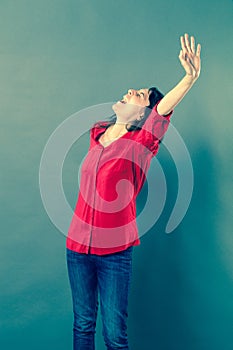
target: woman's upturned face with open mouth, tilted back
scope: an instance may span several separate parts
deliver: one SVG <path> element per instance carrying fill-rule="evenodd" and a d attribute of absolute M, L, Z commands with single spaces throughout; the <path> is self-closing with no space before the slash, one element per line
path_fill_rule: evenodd
<path fill-rule="evenodd" d="M 129 89 L 123 99 L 112 106 L 118 119 L 124 122 L 138 119 L 144 115 L 145 107 L 149 106 L 149 89 Z"/>

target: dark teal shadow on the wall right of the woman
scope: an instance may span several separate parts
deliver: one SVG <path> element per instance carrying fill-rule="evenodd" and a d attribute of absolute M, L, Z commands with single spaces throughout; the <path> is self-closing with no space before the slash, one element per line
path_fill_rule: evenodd
<path fill-rule="evenodd" d="M 164 169 L 165 210 L 134 248 L 128 323 L 134 350 L 231 348 L 232 285 L 217 246 L 219 170 L 210 146 L 203 138 L 196 141 L 193 197 L 182 223 L 165 234 L 177 183 L 172 169 Z"/>

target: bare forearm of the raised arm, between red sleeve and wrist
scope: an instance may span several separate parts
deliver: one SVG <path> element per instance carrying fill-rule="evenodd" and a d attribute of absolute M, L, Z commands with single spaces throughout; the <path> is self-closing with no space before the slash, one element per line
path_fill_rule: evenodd
<path fill-rule="evenodd" d="M 184 98 L 197 79 L 186 74 L 159 102 L 157 111 L 160 115 L 168 114 Z"/>

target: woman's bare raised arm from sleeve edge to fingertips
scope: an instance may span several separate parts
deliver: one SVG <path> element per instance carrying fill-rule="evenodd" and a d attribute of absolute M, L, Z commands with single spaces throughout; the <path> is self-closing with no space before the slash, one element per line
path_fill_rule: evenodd
<path fill-rule="evenodd" d="M 191 36 L 191 45 L 189 36 L 186 33 L 180 37 L 181 50 L 179 54 L 180 63 L 185 70 L 185 76 L 180 82 L 170 90 L 159 102 L 157 111 L 160 115 L 168 114 L 184 98 L 187 92 L 196 82 L 201 71 L 201 45 L 197 45 L 195 50 L 195 39 Z"/>

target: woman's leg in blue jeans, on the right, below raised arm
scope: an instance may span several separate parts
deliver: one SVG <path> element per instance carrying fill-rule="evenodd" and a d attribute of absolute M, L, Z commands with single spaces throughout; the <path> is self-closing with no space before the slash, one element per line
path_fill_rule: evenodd
<path fill-rule="evenodd" d="M 108 350 L 128 350 L 127 307 L 132 277 L 132 250 L 97 259 L 103 336 Z"/>

